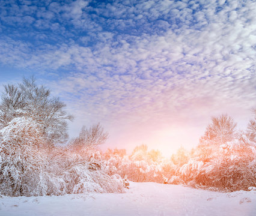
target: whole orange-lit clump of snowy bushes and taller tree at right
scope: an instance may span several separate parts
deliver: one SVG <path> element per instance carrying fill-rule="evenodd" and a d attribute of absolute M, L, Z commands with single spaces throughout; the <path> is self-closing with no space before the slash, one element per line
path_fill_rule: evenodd
<path fill-rule="evenodd" d="M 227 115 L 212 118 L 197 148 L 187 154 L 172 155 L 177 165 L 169 184 L 222 191 L 248 190 L 255 187 L 256 151 L 251 132 L 236 131 L 236 123 Z M 248 136 L 248 134 L 250 136 Z M 178 157 L 181 155 L 182 157 Z M 184 163 L 184 161 L 189 160 Z"/>

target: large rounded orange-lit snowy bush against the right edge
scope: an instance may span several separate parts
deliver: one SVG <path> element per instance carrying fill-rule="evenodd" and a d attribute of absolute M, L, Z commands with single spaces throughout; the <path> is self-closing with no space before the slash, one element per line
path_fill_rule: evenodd
<path fill-rule="evenodd" d="M 219 157 L 201 169 L 201 184 L 221 190 L 248 190 L 256 186 L 255 146 L 234 140 L 221 145 Z"/>

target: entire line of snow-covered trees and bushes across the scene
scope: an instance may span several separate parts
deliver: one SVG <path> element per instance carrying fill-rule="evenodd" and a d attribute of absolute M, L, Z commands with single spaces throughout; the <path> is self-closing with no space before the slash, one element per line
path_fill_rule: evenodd
<path fill-rule="evenodd" d="M 66 104 L 33 77 L 4 86 L 0 103 L 0 194 L 44 196 L 124 193 L 129 181 L 181 184 L 214 191 L 256 187 L 256 109 L 245 131 L 228 115 L 212 117 L 198 145 L 170 158 L 147 145 L 99 148 L 108 133 L 100 124 L 69 139 L 73 116 Z"/>

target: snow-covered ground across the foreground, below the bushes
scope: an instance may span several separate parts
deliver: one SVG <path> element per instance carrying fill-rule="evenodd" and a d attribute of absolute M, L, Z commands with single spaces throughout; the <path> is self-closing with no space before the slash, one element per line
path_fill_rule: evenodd
<path fill-rule="evenodd" d="M 2 197 L 0 215 L 255 215 L 256 191 L 217 193 L 134 183 L 124 194 Z"/>

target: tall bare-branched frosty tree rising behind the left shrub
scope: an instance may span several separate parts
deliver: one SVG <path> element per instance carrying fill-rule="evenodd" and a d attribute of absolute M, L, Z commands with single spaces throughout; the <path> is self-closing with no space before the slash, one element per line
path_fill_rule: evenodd
<path fill-rule="evenodd" d="M 49 89 L 37 86 L 34 77 L 23 79 L 17 85 L 4 86 L 0 103 L 0 128 L 16 118 L 26 116 L 41 125 L 43 136 L 49 145 L 67 140 L 67 120 L 73 117 L 67 115 L 66 104 L 59 98 L 51 97 Z"/>

